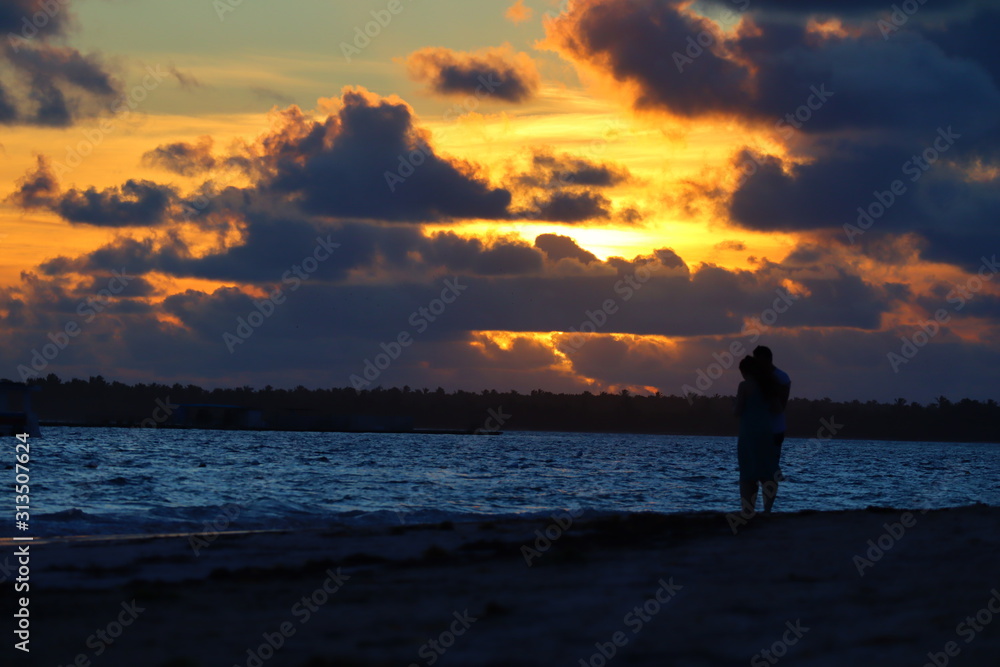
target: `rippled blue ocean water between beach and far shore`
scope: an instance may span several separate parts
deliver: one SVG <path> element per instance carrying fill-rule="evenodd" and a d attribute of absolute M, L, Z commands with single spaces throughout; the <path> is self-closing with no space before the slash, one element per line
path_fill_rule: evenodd
<path fill-rule="evenodd" d="M 31 440 L 29 464 L 36 536 L 738 507 L 735 437 L 54 427 L 43 435 Z M 0 472 L 12 483 L 16 440 L 8 440 Z M 1000 505 L 997 444 L 790 438 L 782 469 L 776 511 Z"/>

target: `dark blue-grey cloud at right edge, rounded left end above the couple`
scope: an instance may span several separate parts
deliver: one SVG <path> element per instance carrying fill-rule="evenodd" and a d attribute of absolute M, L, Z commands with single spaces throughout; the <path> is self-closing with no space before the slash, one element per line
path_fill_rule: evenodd
<path fill-rule="evenodd" d="M 827 230 L 834 241 L 890 262 L 880 237 L 916 233 L 926 241 L 925 258 L 975 269 L 982 248 L 1000 247 L 1000 191 L 993 182 L 967 178 L 962 166 L 947 162 L 947 152 L 935 164 L 924 162 L 926 170 L 920 166 L 940 136 L 932 132 L 911 150 L 857 145 L 791 167 L 758 158 L 757 172 L 730 200 L 730 215 L 759 231 Z"/>

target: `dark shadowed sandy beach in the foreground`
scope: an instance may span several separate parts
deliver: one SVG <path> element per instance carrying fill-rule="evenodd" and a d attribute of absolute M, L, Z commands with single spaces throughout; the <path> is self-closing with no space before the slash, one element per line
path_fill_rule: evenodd
<path fill-rule="evenodd" d="M 1000 508 L 903 515 L 35 542 L 31 654 L 8 580 L 0 664 L 1000 665 Z"/>

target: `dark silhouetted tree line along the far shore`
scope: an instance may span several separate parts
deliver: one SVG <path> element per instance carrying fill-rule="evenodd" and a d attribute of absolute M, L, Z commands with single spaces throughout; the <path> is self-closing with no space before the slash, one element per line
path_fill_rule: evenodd
<path fill-rule="evenodd" d="M 42 422 L 88 425 L 150 425 L 172 405 L 208 403 L 269 411 L 316 414 L 359 414 L 413 417 L 415 428 L 491 429 L 662 433 L 672 435 L 735 435 L 736 418 L 729 396 L 555 394 L 536 389 L 446 392 L 410 387 L 355 390 L 263 389 L 233 387 L 203 389 L 187 384 L 108 382 L 101 376 L 62 381 L 55 374 L 30 380 L 40 390 L 32 402 Z M 823 437 L 824 421 L 838 425 L 837 438 L 872 440 L 934 440 L 1000 442 L 1000 406 L 945 397 L 927 405 L 900 398 L 837 402 L 793 398 L 788 403 L 788 437 Z"/>

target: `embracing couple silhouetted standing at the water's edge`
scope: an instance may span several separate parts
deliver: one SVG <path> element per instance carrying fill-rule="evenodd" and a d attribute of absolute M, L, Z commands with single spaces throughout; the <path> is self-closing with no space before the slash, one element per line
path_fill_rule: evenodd
<path fill-rule="evenodd" d="M 792 381 L 775 367 L 770 348 L 759 345 L 740 361 L 743 381 L 736 391 L 740 419 L 736 455 L 740 465 L 740 505 L 743 515 L 756 513 L 758 485 L 764 512 L 770 513 L 781 481 L 781 444 L 785 440 L 785 406 Z"/>

